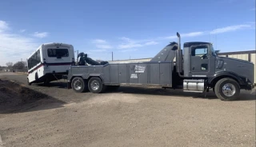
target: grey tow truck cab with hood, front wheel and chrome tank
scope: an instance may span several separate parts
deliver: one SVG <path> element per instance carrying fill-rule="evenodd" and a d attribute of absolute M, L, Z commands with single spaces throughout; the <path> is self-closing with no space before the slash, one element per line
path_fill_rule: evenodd
<path fill-rule="evenodd" d="M 182 51 L 177 50 L 179 52 Z M 252 62 L 218 57 L 210 42 L 186 42 L 183 54 L 183 58 L 178 58 L 183 59 L 182 67 L 177 66 L 182 69 L 178 72 L 184 78 L 183 89 L 187 92 L 212 88 L 220 99 L 234 100 L 238 98 L 240 89 L 254 88 Z"/>

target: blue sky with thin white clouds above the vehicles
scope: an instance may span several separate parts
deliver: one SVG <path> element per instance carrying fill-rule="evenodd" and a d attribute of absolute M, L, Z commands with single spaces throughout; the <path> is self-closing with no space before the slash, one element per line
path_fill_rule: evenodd
<path fill-rule="evenodd" d="M 0 66 L 45 42 L 94 59 L 150 58 L 177 31 L 221 52 L 255 50 L 255 0 L 0 0 Z"/>

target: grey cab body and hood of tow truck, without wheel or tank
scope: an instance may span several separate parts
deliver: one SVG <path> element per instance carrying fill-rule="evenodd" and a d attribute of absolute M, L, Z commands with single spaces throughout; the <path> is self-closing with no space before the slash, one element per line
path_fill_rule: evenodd
<path fill-rule="evenodd" d="M 236 58 L 218 57 L 209 42 L 184 43 L 184 77 L 207 77 L 208 84 L 221 77 L 232 77 L 242 89 L 251 89 L 254 64 Z"/>

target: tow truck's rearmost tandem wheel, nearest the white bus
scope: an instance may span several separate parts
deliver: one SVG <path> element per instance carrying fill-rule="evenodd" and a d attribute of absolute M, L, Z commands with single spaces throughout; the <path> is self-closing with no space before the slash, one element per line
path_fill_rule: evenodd
<path fill-rule="evenodd" d="M 87 89 L 86 82 L 82 79 L 82 77 L 74 77 L 71 81 L 72 89 L 74 89 L 77 93 L 85 92 Z"/>

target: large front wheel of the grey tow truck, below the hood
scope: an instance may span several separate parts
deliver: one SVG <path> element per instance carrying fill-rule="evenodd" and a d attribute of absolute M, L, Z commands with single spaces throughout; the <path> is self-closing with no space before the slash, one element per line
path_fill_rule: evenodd
<path fill-rule="evenodd" d="M 225 87 L 227 87 L 226 90 Z M 232 78 L 222 78 L 217 81 L 214 91 L 216 96 L 222 101 L 234 101 L 239 98 L 240 86 Z"/>

